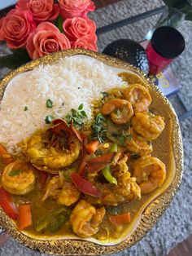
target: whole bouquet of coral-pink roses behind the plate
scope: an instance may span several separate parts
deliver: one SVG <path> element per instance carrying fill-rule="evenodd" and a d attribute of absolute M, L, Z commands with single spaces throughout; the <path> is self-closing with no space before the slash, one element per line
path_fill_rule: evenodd
<path fill-rule="evenodd" d="M 94 8 L 91 0 L 18 0 L 0 20 L 0 41 L 13 52 L 0 58 L 0 67 L 70 48 L 98 51 L 96 24 L 87 16 Z"/>

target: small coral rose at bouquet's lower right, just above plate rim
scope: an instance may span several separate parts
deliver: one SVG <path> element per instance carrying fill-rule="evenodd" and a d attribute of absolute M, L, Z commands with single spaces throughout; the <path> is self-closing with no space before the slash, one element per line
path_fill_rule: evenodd
<path fill-rule="evenodd" d="M 71 44 L 72 44 L 72 48 L 83 48 L 91 51 L 98 51 L 98 46 L 92 38 L 87 38 L 87 37 L 78 38 L 76 39 L 75 42 L 71 42 Z"/>

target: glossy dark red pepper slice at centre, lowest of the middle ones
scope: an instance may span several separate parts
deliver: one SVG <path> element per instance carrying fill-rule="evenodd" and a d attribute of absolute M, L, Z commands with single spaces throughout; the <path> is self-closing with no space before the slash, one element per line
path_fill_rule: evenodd
<path fill-rule="evenodd" d="M 72 173 L 70 176 L 76 188 L 78 188 L 81 192 L 88 194 L 89 196 L 101 196 L 98 188 L 96 188 L 94 184 L 90 183 L 88 180 L 82 178 L 80 174 Z"/>

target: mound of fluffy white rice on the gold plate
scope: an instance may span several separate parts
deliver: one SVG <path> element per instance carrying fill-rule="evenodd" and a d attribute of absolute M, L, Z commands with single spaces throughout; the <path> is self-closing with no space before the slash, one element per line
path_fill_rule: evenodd
<path fill-rule="evenodd" d="M 18 142 L 47 126 L 46 116 L 65 117 L 80 104 L 91 118 L 93 99 L 101 97 L 101 91 L 123 86 L 116 73 L 98 60 L 76 55 L 18 75 L 8 84 L 0 105 L 0 143 L 15 154 Z M 46 107 L 47 99 L 53 108 Z"/>

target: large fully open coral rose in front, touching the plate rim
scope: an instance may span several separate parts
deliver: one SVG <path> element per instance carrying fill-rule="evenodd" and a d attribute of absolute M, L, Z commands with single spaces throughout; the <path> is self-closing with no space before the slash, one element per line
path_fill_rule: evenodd
<path fill-rule="evenodd" d="M 28 55 L 34 60 L 55 51 L 69 49 L 71 45 L 68 38 L 60 33 L 54 24 L 42 22 L 28 37 L 26 48 Z"/>

